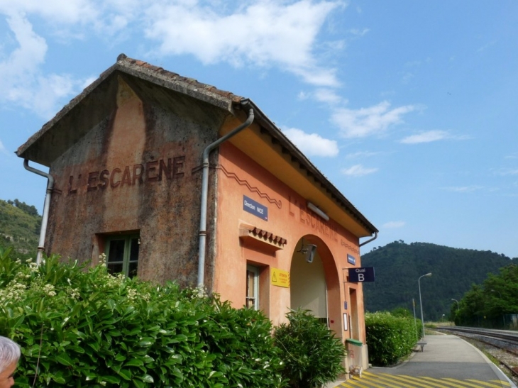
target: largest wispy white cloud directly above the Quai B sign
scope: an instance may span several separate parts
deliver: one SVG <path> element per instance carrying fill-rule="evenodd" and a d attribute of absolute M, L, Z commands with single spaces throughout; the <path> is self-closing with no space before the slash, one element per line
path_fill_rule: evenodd
<path fill-rule="evenodd" d="M 390 109 L 388 101 L 362 109 L 338 108 L 331 115 L 331 122 L 340 128 L 345 138 L 364 138 L 370 135 L 380 135 L 387 128 L 402 123 L 403 116 L 416 110 L 413 105 L 399 106 Z"/>

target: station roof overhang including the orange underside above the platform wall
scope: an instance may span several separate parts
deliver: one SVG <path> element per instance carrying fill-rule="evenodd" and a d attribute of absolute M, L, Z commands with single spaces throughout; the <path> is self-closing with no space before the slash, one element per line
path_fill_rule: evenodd
<path fill-rule="evenodd" d="M 241 111 L 241 96 L 121 54 L 113 66 L 21 145 L 16 155 L 50 167 L 53 160 L 91 128 L 109 119 L 116 110 L 118 77 L 123 77 L 131 87 L 149 98 L 160 100 L 162 104 L 167 104 L 167 94 L 181 94 L 191 98 L 189 102 L 194 108 L 202 110 L 209 104 L 228 112 L 236 121 L 244 121 L 246 117 Z M 231 138 L 231 143 L 358 238 L 378 233 L 375 226 L 324 177 L 280 128 L 253 101 L 248 101 L 255 113 L 254 123 Z"/>

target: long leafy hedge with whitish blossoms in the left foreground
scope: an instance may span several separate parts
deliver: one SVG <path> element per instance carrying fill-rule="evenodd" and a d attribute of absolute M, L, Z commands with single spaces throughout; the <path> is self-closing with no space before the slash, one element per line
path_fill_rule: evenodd
<path fill-rule="evenodd" d="M 199 289 L 57 256 L 37 267 L 0 248 L 0 335 L 22 348 L 17 387 L 282 387 L 271 330 Z"/>

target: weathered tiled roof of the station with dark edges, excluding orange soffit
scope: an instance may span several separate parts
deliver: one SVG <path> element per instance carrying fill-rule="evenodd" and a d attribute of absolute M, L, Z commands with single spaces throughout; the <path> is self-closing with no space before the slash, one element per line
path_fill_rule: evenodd
<path fill-rule="evenodd" d="M 175 72 L 170 72 L 162 67 L 150 65 L 148 62 L 129 58 L 124 54 L 117 57 L 117 62 L 101 73 L 98 79 L 86 87 L 69 104 L 63 107 L 48 123 L 21 145 L 16 154 L 19 157 L 38 162 L 41 165 L 50 166 L 56 157 L 62 155 L 70 145 L 77 142 L 90 128 L 106 118 L 111 111 L 116 109 L 114 99 L 106 99 L 106 94 L 113 93 L 116 88 L 115 74 L 128 74 L 137 79 L 150 82 L 150 84 L 191 96 L 199 101 L 217 106 L 220 109 L 235 114 L 236 106 L 240 105 L 243 97 L 218 89 L 209 84 L 198 82 L 196 79 L 182 77 Z M 370 233 L 378 230 L 371 224 L 341 192 L 307 159 L 296 145 L 294 145 L 270 118 L 260 111 L 253 101 L 248 100 L 253 107 L 254 122 L 260 126 L 261 133 L 268 133 L 272 147 L 282 153 L 291 155 L 291 160 L 304 170 L 309 179 L 313 179 L 317 186 L 325 190 L 331 200 L 341 206 L 348 214 L 362 224 Z M 82 107 L 86 109 L 82 109 Z M 75 109 L 78 107 L 78 109 Z M 57 135 L 59 134 L 59 135 Z M 40 147 L 41 143 L 52 140 L 53 147 Z"/>

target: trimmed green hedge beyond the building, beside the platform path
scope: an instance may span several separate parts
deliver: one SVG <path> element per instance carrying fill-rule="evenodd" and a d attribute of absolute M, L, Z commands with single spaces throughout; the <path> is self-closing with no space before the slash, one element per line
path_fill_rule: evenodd
<path fill-rule="evenodd" d="M 416 324 L 414 318 L 387 312 L 365 314 L 369 361 L 378 367 L 395 365 L 412 353 L 421 331 L 421 321 Z"/>

